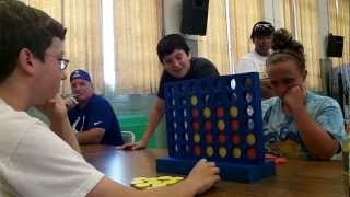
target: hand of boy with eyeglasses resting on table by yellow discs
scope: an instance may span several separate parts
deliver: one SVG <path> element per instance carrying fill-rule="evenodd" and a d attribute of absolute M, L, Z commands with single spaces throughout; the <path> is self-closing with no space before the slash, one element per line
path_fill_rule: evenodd
<path fill-rule="evenodd" d="M 196 194 L 201 194 L 220 179 L 219 172 L 220 170 L 214 162 L 208 162 L 206 159 L 201 159 L 184 182 L 189 183 L 191 187 L 189 189 L 195 189 Z"/>

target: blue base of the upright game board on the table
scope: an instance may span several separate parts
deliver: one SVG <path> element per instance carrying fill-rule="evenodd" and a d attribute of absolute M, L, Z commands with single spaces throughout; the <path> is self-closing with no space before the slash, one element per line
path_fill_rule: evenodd
<path fill-rule="evenodd" d="M 156 171 L 187 175 L 196 164 L 194 160 L 175 158 L 156 159 Z M 233 164 L 217 162 L 220 167 L 220 177 L 224 181 L 254 183 L 276 174 L 275 163 L 266 161 L 259 164 Z"/>

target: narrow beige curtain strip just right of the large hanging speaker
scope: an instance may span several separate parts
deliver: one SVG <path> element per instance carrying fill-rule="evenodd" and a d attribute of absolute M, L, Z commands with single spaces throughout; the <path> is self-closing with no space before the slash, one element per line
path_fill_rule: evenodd
<path fill-rule="evenodd" d="M 207 35 L 198 37 L 198 56 L 212 61 L 220 74 L 229 73 L 225 0 L 209 1 Z"/>

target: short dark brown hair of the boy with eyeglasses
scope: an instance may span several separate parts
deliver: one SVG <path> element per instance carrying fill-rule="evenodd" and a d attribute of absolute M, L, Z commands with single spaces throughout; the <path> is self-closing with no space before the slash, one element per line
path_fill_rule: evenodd
<path fill-rule="evenodd" d="M 0 0 L 0 82 L 15 69 L 21 49 L 44 61 L 52 38 L 65 40 L 65 35 L 66 28 L 45 12 L 18 0 Z"/>

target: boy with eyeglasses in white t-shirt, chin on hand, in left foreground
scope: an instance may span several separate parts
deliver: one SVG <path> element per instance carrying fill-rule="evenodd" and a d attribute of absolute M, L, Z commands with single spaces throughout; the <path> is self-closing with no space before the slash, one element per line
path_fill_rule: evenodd
<path fill-rule="evenodd" d="M 0 196 L 195 196 L 219 181 L 215 164 L 201 160 L 182 183 L 136 190 L 90 165 L 57 96 L 65 35 L 45 12 L 0 0 Z M 50 127 L 25 113 L 31 106 Z"/>

